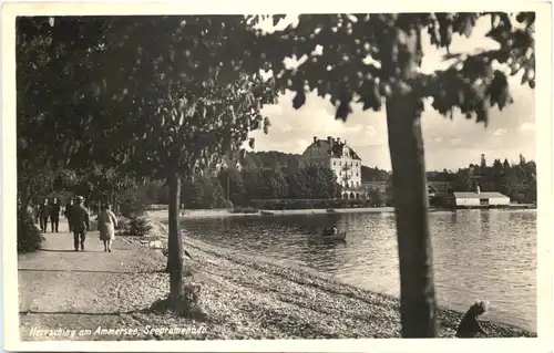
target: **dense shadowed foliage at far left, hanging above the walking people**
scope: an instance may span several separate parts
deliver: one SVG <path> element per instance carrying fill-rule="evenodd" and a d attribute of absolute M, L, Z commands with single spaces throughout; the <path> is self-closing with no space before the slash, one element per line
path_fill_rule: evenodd
<path fill-rule="evenodd" d="M 106 23 L 102 17 L 17 20 L 18 194 L 25 205 L 61 190 L 111 201 L 129 184 L 110 146 L 98 148 L 107 110 L 89 75 L 105 49 Z"/>

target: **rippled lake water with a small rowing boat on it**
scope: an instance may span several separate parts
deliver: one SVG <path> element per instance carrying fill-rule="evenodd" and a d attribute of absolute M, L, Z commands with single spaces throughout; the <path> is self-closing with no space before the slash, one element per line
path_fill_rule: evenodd
<path fill-rule="evenodd" d="M 536 211 L 430 214 L 440 305 L 465 311 L 489 300 L 483 319 L 536 332 Z M 240 253 L 290 261 L 372 291 L 399 297 L 393 214 L 229 217 L 184 222 L 191 237 Z M 347 242 L 321 239 L 327 226 Z"/>

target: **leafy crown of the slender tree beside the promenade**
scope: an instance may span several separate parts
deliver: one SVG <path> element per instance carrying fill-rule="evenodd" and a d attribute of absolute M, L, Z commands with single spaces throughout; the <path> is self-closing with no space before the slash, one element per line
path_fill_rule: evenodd
<path fill-rule="evenodd" d="M 105 62 L 99 77 L 121 114 L 114 138 L 126 144 L 140 173 L 194 174 L 238 150 L 249 131 L 267 129 L 259 111 L 274 102 L 270 87 L 224 60 L 233 42 L 226 21 L 237 20 L 112 20 L 104 56 L 115 62 Z M 144 41 L 146 33 L 152 41 Z"/>

